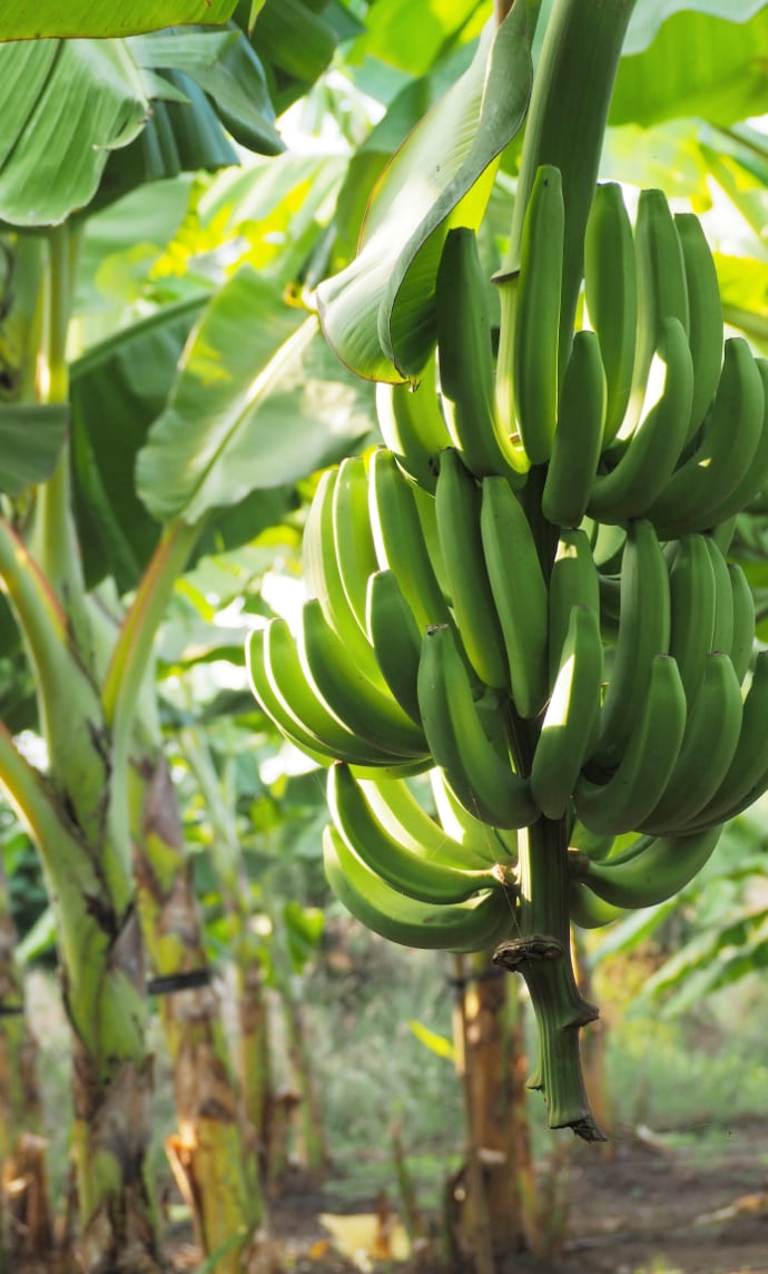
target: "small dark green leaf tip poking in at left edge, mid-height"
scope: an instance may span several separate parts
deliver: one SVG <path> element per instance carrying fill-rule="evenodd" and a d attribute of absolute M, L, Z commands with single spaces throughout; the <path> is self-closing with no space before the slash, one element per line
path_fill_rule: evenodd
<path fill-rule="evenodd" d="M 0 403 L 0 490 L 18 496 L 46 482 L 61 454 L 66 403 Z"/>

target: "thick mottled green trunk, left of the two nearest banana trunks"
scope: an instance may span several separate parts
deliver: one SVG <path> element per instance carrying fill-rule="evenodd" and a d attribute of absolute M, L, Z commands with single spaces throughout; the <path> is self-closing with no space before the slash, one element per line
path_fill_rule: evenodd
<path fill-rule="evenodd" d="M 75 669 L 66 674 L 70 687 Z M 0 784 L 39 848 L 56 912 L 73 1034 L 78 1261 L 85 1274 L 159 1274 L 146 1176 L 152 1057 L 144 1038 L 144 952 L 132 892 L 120 870 L 122 855 L 103 810 L 108 782 L 96 720 L 88 712 L 69 719 L 70 754 L 84 766 L 76 787 L 53 790 L 4 729 Z M 53 736 L 53 743 L 62 740 Z M 55 772 L 56 748 L 50 753 Z M 94 787 L 99 814 L 89 804 Z M 101 837 L 93 836 L 94 823 Z"/>

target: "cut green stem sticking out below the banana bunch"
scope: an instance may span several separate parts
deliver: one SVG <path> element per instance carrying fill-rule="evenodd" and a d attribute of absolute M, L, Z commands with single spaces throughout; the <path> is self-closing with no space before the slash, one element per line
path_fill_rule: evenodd
<path fill-rule="evenodd" d="M 540 818 L 518 841 L 518 935 L 501 943 L 493 959 L 520 973 L 529 989 L 540 1056 L 529 1084 L 544 1096 L 549 1126 L 604 1142 L 581 1070 L 578 1031 L 597 1018 L 597 1009 L 580 995 L 573 973 L 564 820 Z"/>

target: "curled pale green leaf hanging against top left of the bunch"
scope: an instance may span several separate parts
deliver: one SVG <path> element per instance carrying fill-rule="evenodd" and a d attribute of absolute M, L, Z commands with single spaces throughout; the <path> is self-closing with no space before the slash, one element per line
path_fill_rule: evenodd
<path fill-rule="evenodd" d="M 326 338 L 358 375 L 402 381 L 424 366 L 446 234 L 453 224 L 479 224 L 492 166 L 522 124 L 530 87 L 525 6 L 516 4 L 495 36 L 487 28 L 469 70 L 395 154 L 355 260 L 317 290 Z"/>

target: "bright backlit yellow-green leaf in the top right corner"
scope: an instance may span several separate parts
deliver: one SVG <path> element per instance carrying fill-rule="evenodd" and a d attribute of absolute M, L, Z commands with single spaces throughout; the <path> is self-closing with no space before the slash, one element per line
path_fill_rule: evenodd
<path fill-rule="evenodd" d="M 695 116 L 727 125 L 764 112 L 768 6 L 721 0 L 694 10 L 669 0 L 634 11 L 646 20 L 628 32 L 609 124 L 651 127 Z"/>

